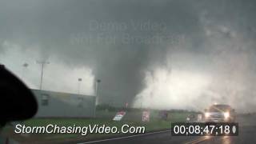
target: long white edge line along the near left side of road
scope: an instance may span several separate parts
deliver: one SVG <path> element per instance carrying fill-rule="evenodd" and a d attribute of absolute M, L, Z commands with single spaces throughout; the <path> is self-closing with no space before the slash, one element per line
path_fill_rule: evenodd
<path fill-rule="evenodd" d="M 124 139 L 124 138 L 134 138 L 134 137 L 139 137 L 139 136 L 144 136 L 144 135 L 160 134 L 160 133 L 166 133 L 166 132 L 170 132 L 170 130 L 157 131 L 157 132 L 151 132 L 151 133 L 146 133 L 146 134 L 135 134 L 135 135 L 129 135 L 129 136 L 124 136 L 124 137 L 119 137 L 119 138 L 108 138 L 108 139 L 102 139 L 102 140 L 98 140 L 98 141 L 81 142 L 81 143 L 77 143 L 77 144 L 106 142 L 106 141 L 113 141 L 113 140 Z"/>

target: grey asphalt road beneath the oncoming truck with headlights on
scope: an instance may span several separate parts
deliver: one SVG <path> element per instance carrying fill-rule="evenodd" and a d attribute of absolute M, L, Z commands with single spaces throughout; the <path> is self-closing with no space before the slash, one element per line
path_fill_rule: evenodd
<path fill-rule="evenodd" d="M 255 122 L 254 118 L 250 118 L 250 123 Z M 244 119 L 239 122 L 238 136 L 229 137 L 174 137 L 171 136 L 170 130 L 155 132 L 150 134 L 132 135 L 121 138 L 109 138 L 91 142 L 77 142 L 77 144 L 254 144 L 256 143 L 256 125 L 250 124 Z"/>

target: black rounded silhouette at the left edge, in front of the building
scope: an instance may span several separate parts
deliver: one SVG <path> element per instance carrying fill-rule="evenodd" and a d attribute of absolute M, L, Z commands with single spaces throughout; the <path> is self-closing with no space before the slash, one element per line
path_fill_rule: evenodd
<path fill-rule="evenodd" d="M 31 118 L 37 110 L 34 94 L 0 64 L 0 124 Z"/>

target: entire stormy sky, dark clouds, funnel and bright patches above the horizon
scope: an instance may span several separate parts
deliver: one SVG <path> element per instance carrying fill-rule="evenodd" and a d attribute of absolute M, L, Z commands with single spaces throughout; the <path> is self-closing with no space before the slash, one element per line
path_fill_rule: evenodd
<path fill-rule="evenodd" d="M 256 108 L 256 3 L 243 0 L 1 1 L 0 62 L 28 86 L 114 106 Z M 23 63 L 28 63 L 26 68 Z"/>

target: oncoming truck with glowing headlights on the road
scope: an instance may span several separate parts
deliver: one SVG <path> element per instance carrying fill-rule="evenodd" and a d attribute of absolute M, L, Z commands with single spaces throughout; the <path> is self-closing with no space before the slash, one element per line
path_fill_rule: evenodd
<path fill-rule="evenodd" d="M 205 122 L 234 122 L 235 112 L 229 105 L 213 105 L 205 110 Z"/>

